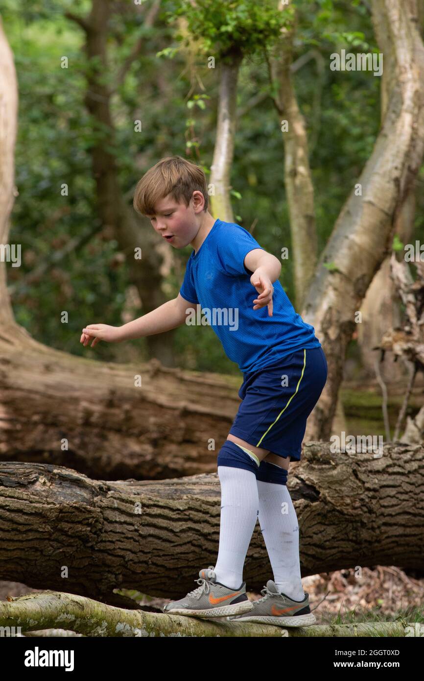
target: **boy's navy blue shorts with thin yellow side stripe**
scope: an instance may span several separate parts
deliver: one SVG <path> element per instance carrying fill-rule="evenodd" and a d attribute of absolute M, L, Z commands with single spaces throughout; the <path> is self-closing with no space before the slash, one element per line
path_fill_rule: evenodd
<path fill-rule="evenodd" d="M 301 349 L 243 374 L 243 400 L 231 434 L 283 458 L 300 460 L 306 419 L 327 381 L 323 348 Z"/>

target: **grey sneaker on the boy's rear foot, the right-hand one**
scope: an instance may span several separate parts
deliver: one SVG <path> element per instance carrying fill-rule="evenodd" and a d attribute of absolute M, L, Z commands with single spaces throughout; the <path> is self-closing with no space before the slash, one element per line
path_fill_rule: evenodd
<path fill-rule="evenodd" d="M 293 601 L 278 591 L 275 582 L 267 581 L 261 590 L 262 598 L 250 601 L 253 612 L 236 617 L 227 617 L 235 622 L 259 622 L 277 624 L 279 627 L 308 627 L 315 624 L 316 618 L 310 612 L 309 594 L 305 592 L 303 601 Z"/>

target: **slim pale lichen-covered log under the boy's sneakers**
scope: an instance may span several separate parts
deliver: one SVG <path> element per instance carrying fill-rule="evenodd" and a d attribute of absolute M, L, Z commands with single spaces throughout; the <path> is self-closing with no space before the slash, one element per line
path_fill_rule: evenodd
<path fill-rule="evenodd" d="M 219 620 L 219 621 L 215 621 Z M 201 620 L 111 607 L 63 592 L 26 594 L 0 602 L 0 627 L 21 627 L 22 632 L 63 627 L 85 636 L 216 636 L 216 637 L 404 637 L 415 631 L 414 622 L 360 622 L 312 627 L 274 627 L 255 622 L 231 622 L 225 618 Z M 408 634 L 410 635 L 410 633 Z"/>

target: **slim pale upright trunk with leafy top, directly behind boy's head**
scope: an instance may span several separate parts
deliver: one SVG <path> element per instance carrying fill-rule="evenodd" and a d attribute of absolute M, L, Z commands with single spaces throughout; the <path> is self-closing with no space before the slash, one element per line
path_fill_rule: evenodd
<path fill-rule="evenodd" d="M 225 222 L 233 222 L 230 197 L 230 174 L 233 162 L 236 123 L 237 81 L 242 54 L 235 52 L 221 57 L 221 81 L 218 97 L 218 123 L 214 157 L 210 167 L 210 183 L 214 194 L 210 197 L 211 212 Z"/>

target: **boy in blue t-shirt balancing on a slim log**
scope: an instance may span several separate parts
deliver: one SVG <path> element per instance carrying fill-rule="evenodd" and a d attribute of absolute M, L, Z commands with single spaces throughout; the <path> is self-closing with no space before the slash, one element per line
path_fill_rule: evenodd
<path fill-rule="evenodd" d="M 287 474 L 300 460 L 306 419 L 327 379 L 327 361 L 314 328 L 304 323 L 278 281 L 280 261 L 235 223 L 208 211 L 206 177 L 180 156 L 161 159 L 141 178 L 134 207 L 180 249 L 193 247 L 174 300 L 119 328 L 91 324 L 81 342 L 122 341 L 180 326 L 186 313 L 213 311 L 208 322 L 244 381 L 242 403 L 218 454 L 221 527 L 216 565 L 199 571 L 199 586 L 163 608 L 203 618 L 304 627 L 314 624 L 301 586 L 299 528 Z M 252 299 L 255 288 L 259 295 Z M 235 311 L 237 325 L 225 323 Z M 215 314 L 215 313 L 218 313 Z M 219 317 L 219 318 L 218 318 Z M 253 603 L 242 580 L 257 518 L 274 581 Z"/>

